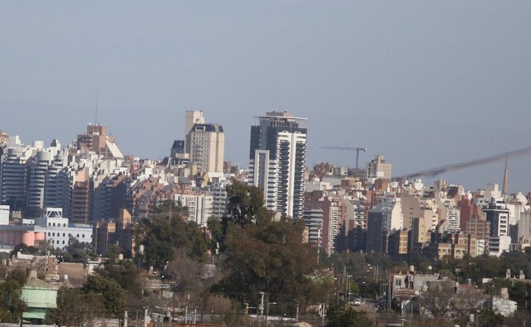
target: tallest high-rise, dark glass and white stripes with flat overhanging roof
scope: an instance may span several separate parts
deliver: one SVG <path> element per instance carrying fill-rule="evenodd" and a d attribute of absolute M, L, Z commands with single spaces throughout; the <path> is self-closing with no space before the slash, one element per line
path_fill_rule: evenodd
<path fill-rule="evenodd" d="M 294 219 L 303 218 L 306 120 L 268 112 L 251 127 L 249 184 L 261 188 L 268 210 Z"/>

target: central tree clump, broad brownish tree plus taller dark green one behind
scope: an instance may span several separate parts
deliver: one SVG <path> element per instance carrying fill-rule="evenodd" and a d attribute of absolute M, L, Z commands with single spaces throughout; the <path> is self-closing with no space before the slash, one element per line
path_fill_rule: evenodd
<path fill-rule="evenodd" d="M 304 222 L 272 220 L 259 189 L 235 183 L 228 189 L 231 215 L 224 219 L 224 277 L 214 291 L 256 303 L 259 292 L 277 308 L 326 301 L 333 278 L 318 264 L 317 250 L 303 243 Z"/>

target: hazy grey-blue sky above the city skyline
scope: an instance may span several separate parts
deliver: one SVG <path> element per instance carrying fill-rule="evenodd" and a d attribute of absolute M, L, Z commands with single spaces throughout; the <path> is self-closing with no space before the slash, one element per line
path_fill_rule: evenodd
<path fill-rule="evenodd" d="M 530 146 L 531 1 L 0 1 L 0 129 L 70 143 L 106 124 L 168 155 L 184 111 L 221 123 L 247 167 L 252 117 L 308 119 L 308 159 L 393 175 Z M 531 190 L 531 155 L 509 189 Z M 504 162 L 442 174 L 475 190 Z"/>

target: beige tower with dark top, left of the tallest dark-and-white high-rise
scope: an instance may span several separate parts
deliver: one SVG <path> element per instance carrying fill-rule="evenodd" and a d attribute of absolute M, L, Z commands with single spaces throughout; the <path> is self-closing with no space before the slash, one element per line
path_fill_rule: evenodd
<path fill-rule="evenodd" d="M 201 172 L 223 172 L 225 133 L 218 124 L 196 123 L 188 133 L 190 160 Z"/>

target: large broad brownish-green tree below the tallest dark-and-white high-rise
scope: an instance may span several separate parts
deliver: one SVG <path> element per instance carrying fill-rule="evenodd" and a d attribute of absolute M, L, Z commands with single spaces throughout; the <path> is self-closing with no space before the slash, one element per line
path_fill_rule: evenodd
<path fill-rule="evenodd" d="M 279 305 L 298 297 L 308 301 L 329 297 L 333 280 L 319 273 L 317 251 L 303 243 L 303 229 L 304 222 L 289 218 L 231 227 L 223 261 L 225 276 L 214 291 L 236 294 L 233 297 L 242 302 L 255 300 L 248 294 L 257 298 L 259 291 L 265 291 Z"/>

